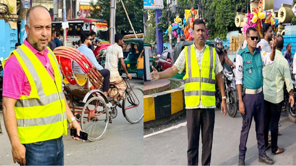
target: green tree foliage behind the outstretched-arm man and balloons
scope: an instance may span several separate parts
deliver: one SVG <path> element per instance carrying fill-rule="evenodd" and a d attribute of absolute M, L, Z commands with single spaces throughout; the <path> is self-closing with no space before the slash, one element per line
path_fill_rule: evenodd
<path fill-rule="evenodd" d="M 247 0 L 179 0 L 177 14 L 183 19 L 184 9 L 199 8 L 200 18 L 205 19 L 206 23 L 208 23 L 209 39 L 226 38 L 227 32 L 240 31 L 239 28 L 235 27 L 235 16 L 240 12 L 247 13 L 247 4 Z M 162 31 L 166 31 L 169 22 L 173 23 L 174 18 L 177 16 L 166 6 L 166 0 L 164 0 L 164 5 L 165 8 L 162 10 L 162 16 L 160 17 L 161 21 L 157 25 Z M 164 36 L 164 42 L 168 41 L 169 37 Z"/>

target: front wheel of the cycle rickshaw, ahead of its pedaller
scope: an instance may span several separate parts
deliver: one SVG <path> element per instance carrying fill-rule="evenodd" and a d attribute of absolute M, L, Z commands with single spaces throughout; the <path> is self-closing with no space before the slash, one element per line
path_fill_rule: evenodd
<path fill-rule="evenodd" d="M 122 102 L 122 111 L 125 119 L 135 124 L 141 121 L 144 117 L 144 91 L 138 87 L 132 87 L 131 96 L 127 93 Z M 136 97 L 135 97 L 136 95 Z"/>

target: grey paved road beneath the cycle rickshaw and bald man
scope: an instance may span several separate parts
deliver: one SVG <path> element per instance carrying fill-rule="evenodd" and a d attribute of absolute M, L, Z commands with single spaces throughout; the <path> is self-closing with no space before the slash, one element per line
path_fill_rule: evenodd
<path fill-rule="evenodd" d="M 143 79 L 133 74 L 131 85 L 143 88 Z M 0 165 L 13 163 L 11 145 L 4 128 L 3 115 L 0 120 L 4 134 L 0 135 Z M 109 124 L 107 133 L 97 142 L 74 141 L 64 136 L 65 165 L 143 165 L 143 119 L 130 124 L 118 109 L 118 115 Z"/>

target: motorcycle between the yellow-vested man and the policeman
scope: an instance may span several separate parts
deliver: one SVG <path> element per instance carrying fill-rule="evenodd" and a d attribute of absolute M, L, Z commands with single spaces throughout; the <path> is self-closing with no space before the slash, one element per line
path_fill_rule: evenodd
<path fill-rule="evenodd" d="M 235 117 L 237 113 L 237 93 L 234 80 L 234 73 L 232 66 L 225 65 L 225 68 L 222 70 L 222 78 L 224 81 L 224 90 L 226 95 L 226 106 L 227 112 L 230 117 Z M 222 103 L 221 92 L 218 85 L 216 86 L 216 107 L 219 108 Z"/>

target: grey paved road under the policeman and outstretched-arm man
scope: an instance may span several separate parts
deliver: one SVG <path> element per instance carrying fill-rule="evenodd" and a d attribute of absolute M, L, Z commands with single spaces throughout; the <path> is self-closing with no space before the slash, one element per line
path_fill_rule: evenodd
<path fill-rule="evenodd" d="M 180 119 L 182 122 L 184 120 Z M 172 125 L 176 126 L 176 124 Z M 296 124 L 288 119 L 286 112 L 282 112 L 280 124 L 282 126 L 279 130 L 283 135 L 278 137 L 278 146 L 284 147 L 286 151 L 275 156 L 271 155 L 270 149 L 266 153 L 274 159 L 274 165 L 296 165 Z M 242 117 L 239 113 L 235 118 L 231 118 L 228 114 L 223 117 L 219 110 L 216 111 L 211 165 L 238 164 L 241 127 Z M 146 137 L 144 138 L 144 165 L 187 165 L 187 145 L 187 126 Z M 246 165 L 265 165 L 258 162 L 254 121 L 250 129 L 247 148 Z M 201 138 L 199 165 L 201 165 Z"/>

